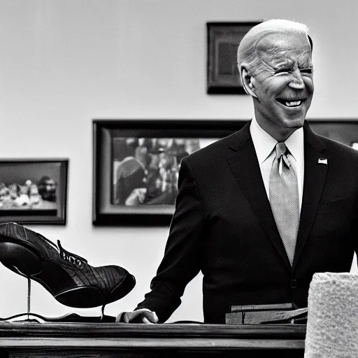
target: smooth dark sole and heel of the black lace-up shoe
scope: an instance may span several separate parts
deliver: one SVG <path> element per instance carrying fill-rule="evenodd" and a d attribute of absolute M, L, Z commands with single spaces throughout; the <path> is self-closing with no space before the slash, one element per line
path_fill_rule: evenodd
<path fill-rule="evenodd" d="M 58 264 L 45 262 L 36 249 L 10 241 L 1 241 L 1 238 L 0 262 L 11 271 L 18 274 L 20 273 L 20 275 L 40 283 L 59 303 L 74 308 L 92 308 L 117 301 L 133 289 L 133 282 L 135 282 L 134 276 L 129 274 L 124 278 L 123 282 L 120 282 L 120 284 L 110 292 L 110 300 L 106 299 L 101 289 L 94 286 L 75 287 L 59 294 L 54 294 L 50 287 L 41 280 L 41 273 L 45 271 L 53 273 L 53 277 L 61 277 L 61 275 L 64 275 L 64 270 Z M 67 273 L 66 276 L 68 276 Z M 115 294 L 115 296 L 112 296 L 115 290 L 119 289 L 122 285 L 123 289 L 121 287 L 119 292 Z"/>

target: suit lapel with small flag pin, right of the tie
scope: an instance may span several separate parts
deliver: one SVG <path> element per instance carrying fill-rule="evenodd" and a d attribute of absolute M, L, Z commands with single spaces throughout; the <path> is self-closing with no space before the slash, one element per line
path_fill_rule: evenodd
<path fill-rule="evenodd" d="M 299 233 L 296 241 L 296 252 L 294 256 L 294 266 L 298 261 L 303 246 L 306 243 L 310 228 L 317 211 L 318 203 L 322 195 L 324 182 L 326 181 L 329 155 L 325 151 L 324 144 L 320 138 L 313 133 L 313 131 L 305 122 L 303 126 L 305 145 L 304 145 L 304 180 L 303 180 L 303 197 L 301 207 L 301 217 L 299 224 Z M 327 159 L 320 161 L 320 159 Z M 320 163 L 321 162 L 321 163 Z"/>

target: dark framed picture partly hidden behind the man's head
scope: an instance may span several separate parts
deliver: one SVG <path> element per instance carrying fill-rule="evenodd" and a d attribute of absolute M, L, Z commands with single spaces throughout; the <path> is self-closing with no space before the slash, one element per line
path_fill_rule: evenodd
<path fill-rule="evenodd" d="M 237 50 L 243 36 L 260 22 L 207 22 L 208 94 L 245 94 L 238 74 Z"/>

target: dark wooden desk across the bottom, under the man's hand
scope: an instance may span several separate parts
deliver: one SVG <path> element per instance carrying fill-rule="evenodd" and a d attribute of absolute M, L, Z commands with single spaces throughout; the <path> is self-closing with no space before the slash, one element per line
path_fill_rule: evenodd
<path fill-rule="evenodd" d="M 8 357 L 303 357 L 304 325 L 0 323 Z"/>

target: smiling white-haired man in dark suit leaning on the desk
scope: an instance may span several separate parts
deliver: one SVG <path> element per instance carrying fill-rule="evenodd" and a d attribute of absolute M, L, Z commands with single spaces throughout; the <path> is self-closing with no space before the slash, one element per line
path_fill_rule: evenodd
<path fill-rule="evenodd" d="M 269 20 L 238 48 L 255 117 L 182 159 L 162 263 L 122 322 L 165 322 L 202 271 L 206 323 L 233 305 L 306 307 L 315 272 L 348 272 L 358 243 L 358 153 L 305 121 L 313 96 L 307 27 Z"/>

